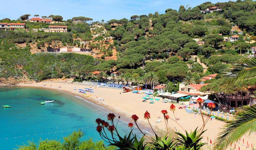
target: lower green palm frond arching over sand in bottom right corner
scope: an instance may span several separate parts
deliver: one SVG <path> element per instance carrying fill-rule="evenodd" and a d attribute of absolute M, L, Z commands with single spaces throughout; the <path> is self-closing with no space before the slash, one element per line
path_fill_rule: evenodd
<path fill-rule="evenodd" d="M 229 121 L 219 133 L 216 149 L 224 150 L 231 143 L 238 141 L 244 134 L 256 131 L 256 105 L 244 106 L 242 111 Z"/>

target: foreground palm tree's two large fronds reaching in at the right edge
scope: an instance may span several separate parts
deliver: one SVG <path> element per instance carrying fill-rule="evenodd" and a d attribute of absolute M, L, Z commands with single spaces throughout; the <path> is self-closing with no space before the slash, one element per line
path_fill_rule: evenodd
<path fill-rule="evenodd" d="M 222 85 L 226 88 L 232 87 L 237 82 L 252 79 L 256 77 L 256 58 L 241 58 L 237 64 L 234 64 L 228 70 L 223 79 Z M 244 106 L 235 116 L 234 120 L 224 126 L 217 138 L 216 149 L 224 150 L 231 143 L 239 140 L 244 134 L 256 131 L 256 105 Z"/>

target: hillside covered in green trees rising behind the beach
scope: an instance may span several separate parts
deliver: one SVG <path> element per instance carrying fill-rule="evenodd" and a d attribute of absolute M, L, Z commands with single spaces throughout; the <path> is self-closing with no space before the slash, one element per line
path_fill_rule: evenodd
<path fill-rule="evenodd" d="M 209 7 L 221 7 L 222 11 L 201 12 Z M 90 26 L 80 17 L 55 23 L 68 26 L 67 33 L 34 32 L 34 28 L 47 28 L 48 24 L 3 19 L 0 22 L 25 22 L 27 29 L 0 31 L 0 77 L 41 81 L 76 76 L 80 80 L 100 81 L 116 70 L 121 75 L 114 80 L 136 85 L 145 83 L 144 74 L 152 72 L 161 84 L 167 85 L 167 89 L 177 91 L 174 83 L 199 83 L 203 76 L 221 74 L 239 58 L 252 55 L 250 47 L 256 45 L 255 7 L 255 1 L 251 0 L 205 2 L 194 8 L 180 6 L 179 10 L 169 8 L 164 14 L 133 15 L 130 19 L 111 19 L 106 23 L 101 20 Z M 107 32 L 100 33 L 96 31 L 98 28 L 91 32 L 92 26 L 99 26 L 99 30 Z M 233 31 L 234 27 L 239 30 Z M 92 39 L 92 33 L 100 36 Z M 232 35 L 239 36 L 239 39 L 225 41 Z M 103 44 L 108 43 L 109 37 L 114 41 L 107 48 Z M 93 58 L 76 53 L 30 52 L 31 43 L 45 49 L 45 46 L 53 47 L 55 42 L 63 46 L 78 46 L 79 41 L 85 41 L 83 47 L 98 49 L 104 56 Z M 18 45 L 22 43 L 26 46 Z M 117 60 L 103 60 L 112 54 L 113 48 L 117 50 Z M 101 73 L 93 77 L 93 71 L 104 71 L 107 75 Z M 205 81 L 209 82 L 212 80 Z"/>

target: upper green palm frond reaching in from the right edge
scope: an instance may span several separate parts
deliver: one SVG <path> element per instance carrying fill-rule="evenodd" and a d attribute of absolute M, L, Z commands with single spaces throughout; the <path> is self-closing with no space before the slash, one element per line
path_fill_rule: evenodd
<path fill-rule="evenodd" d="M 224 75 L 225 82 L 223 82 L 223 84 L 226 84 L 227 87 L 229 87 L 236 82 L 240 82 L 245 79 L 252 79 L 255 77 L 256 57 L 241 58 L 237 64 L 233 64 L 226 70 Z"/>

